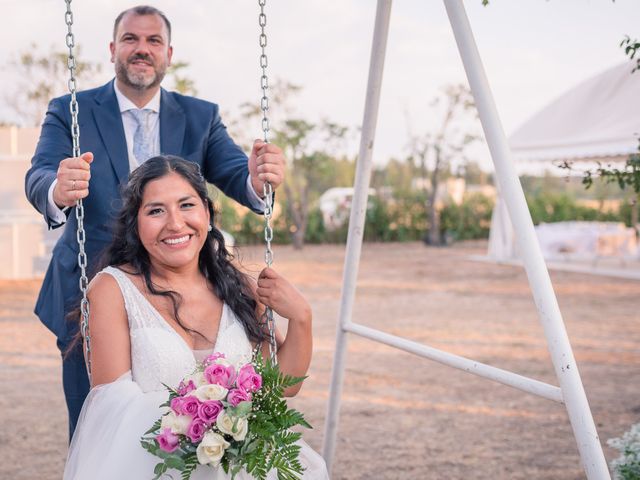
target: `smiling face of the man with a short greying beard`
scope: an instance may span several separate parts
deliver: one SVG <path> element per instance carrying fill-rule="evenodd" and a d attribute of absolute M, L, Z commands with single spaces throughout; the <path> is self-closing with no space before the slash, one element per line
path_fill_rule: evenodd
<path fill-rule="evenodd" d="M 160 85 L 171 64 L 167 26 L 158 15 L 125 15 L 109 45 L 116 78 L 136 90 Z"/>

